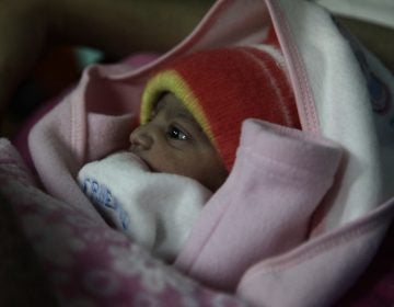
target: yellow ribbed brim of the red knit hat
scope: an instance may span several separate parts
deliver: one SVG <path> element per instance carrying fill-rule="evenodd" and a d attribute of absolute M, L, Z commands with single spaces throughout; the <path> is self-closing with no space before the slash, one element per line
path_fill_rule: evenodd
<path fill-rule="evenodd" d="M 148 81 L 142 94 L 140 111 L 141 124 L 146 124 L 149 121 L 154 103 L 163 92 L 171 92 L 177 96 L 192 113 L 193 117 L 197 121 L 209 139 L 215 144 L 215 137 L 209 126 L 209 122 L 207 121 L 198 99 L 176 70 L 164 70 Z"/>

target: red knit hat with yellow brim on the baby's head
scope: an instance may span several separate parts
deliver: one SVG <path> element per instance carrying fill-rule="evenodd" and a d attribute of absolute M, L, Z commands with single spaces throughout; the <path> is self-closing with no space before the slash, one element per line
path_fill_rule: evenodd
<path fill-rule="evenodd" d="M 194 115 L 230 171 L 246 118 L 300 128 L 280 52 L 273 45 L 232 47 L 186 55 L 157 72 L 142 94 L 144 124 L 163 92 Z"/>

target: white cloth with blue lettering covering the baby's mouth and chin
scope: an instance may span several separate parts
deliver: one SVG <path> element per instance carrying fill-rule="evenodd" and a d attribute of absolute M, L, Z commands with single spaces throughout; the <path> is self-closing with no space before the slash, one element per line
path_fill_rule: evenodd
<path fill-rule="evenodd" d="M 212 192 L 176 174 L 151 172 L 121 151 L 85 164 L 78 181 L 104 217 L 164 260 L 173 260 Z"/>

